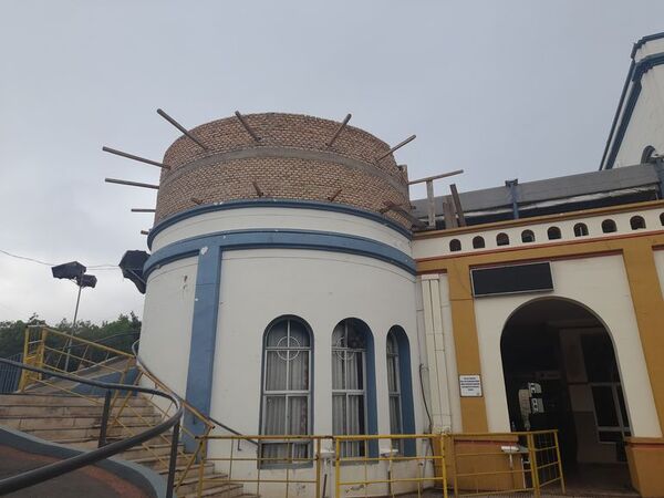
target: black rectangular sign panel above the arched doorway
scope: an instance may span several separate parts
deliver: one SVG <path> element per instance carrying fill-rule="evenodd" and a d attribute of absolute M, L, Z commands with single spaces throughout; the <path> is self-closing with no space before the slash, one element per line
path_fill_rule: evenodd
<path fill-rule="evenodd" d="M 470 277 L 475 297 L 553 290 L 549 262 L 478 268 Z"/>

